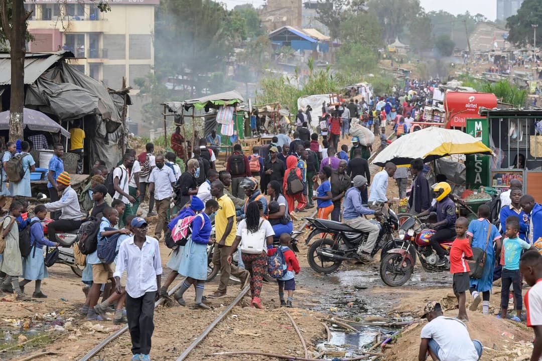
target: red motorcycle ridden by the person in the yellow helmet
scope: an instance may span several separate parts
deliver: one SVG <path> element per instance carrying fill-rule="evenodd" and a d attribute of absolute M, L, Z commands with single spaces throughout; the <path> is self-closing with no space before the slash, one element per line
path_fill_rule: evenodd
<path fill-rule="evenodd" d="M 399 238 L 394 240 L 399 247 L 389 249 L 380 260 L 380 278 L 388 286 L 402 286 L 410 279 L 416 264 L 416 255 L 427 272 L 449 271 L 449 265 L 437 266 L 438 255 L 429 244 L 429 238 L 436 233 L 418 218 L 406 219 L 399 228 Z M 440 246 L 447 254 L 455 239 L 444 240 Z M 389 247 L 386 247 L 389 248 Z"/>

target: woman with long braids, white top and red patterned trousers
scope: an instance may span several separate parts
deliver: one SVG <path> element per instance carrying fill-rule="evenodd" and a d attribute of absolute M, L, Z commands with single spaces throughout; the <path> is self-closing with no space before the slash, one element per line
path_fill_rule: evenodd
<path fill-rule="evenodd" d="M 245 218 L 237 226 L 236 237 L 228 255 L 228 263 L 233 260 L 233 254 L 236 252 L 242 238 L 256 237 L 264 245 L 261 253 L 254 254 L 241 251 L 244 268 L 250 272 L 251 305 L 257 309 L 263 309 L 260 302 L 260 292 L 262 291 L 263 274 L 266 272 L 267 267 L 267 250 L 273 248 L 274 235 L 273 227 L 268 220 L 263 218 L 263 205 L 261 202 L 250 202 L 245 212 Z"/>

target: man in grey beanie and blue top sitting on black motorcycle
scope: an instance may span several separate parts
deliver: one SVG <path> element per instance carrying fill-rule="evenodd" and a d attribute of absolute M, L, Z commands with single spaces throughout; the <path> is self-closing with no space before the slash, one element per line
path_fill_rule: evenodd
<path fill-rule="evenodd" d="M 361 192 L 367 188 L 367 179 L 363 175 L 356 175 L 353 183 L 354 186 L 349 188 L 344 196 L 343 220 L 350 227 L 369 233 L 367 241 L 360 244 L 357 250 L 360 261 L 369 263 L 372 261 L 371 251 L 375 247 L 380 229 L 376 224 L 364 218 L 364 215 L 375 214 L 379 216 L 382 215 L 382 212 L 362 206 Z"/>

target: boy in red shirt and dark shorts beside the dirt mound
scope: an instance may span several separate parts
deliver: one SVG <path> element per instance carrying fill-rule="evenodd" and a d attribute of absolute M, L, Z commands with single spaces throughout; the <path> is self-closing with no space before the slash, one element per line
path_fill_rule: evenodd
<path fill-rule="evenodd" d="M 469 289 L 469 265 L 466 259 L 473 259 L 473 251 L 470 242 L 465 234 L 469 228 L 469 221 L 460 217 L 455 221 L 455 233 L 457 238 L 451 245 L 450 250 L 450 273 L 454 275 L 453 288 L 457 303 L 459 304 L 460 320 L 468 320 L 467 309 L 465 308 L 465 291 Z"/>

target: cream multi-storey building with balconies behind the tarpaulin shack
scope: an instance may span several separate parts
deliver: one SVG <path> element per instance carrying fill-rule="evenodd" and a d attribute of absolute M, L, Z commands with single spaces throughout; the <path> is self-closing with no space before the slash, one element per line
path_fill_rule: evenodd
<path fill-rule="evenodd" d="M 107 87 L 120 89 L 122 77 L 132 90 L 131 121 L 139 122 L 141 102 L 134 79 L 149 74 L 154 65 L 154 7 L 159 0 L 114 0 L 111 11 L 100 12 L 91 0 L 35 0 L 25 3 L 32 11 L 28 30 L 34 41 L 28 51 L 70 50 L 76 69 Z"/>

